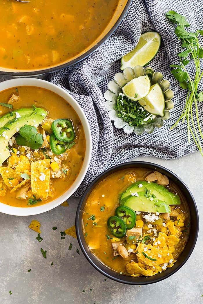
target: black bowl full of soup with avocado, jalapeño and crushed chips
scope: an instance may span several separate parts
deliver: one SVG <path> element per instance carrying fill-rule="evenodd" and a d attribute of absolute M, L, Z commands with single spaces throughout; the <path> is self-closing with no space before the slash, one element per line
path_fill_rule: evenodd
<path fill-rule="evenodd" d="M 179 270 L 198 236 L 198 211 L 184 182 L 143 161 L 100 174 L 82 196 L 76 233 L 83 254 L 117 282 L 145 285 Z"/>

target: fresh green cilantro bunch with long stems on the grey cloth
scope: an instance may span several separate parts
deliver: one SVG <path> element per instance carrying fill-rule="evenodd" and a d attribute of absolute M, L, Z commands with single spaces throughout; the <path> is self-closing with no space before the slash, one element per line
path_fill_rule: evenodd
<path fill-rule="evenodd" d="M 173 67 L 171 73 L 180 82 L 180 87 L 188 91 L 185 106 L 180 118 L 171 129 L 176 127 L 181 119 L 182 122 L 184 122 L 186 119 L 188 142 L 190 143 L 190 137 L 192 136 L 194 142 L 200 150 L 201 155 L 203 156 L 201 147 L 201 138 L 203 138 L 203 134 L 198 115 L 198 102 L 203 101 L 203 92 L 198 92 L 198 84 L 203 76 L 203 71 L 201 71 L 200 68 L 200 59 L 203 58 L 203 48 L 198 37 L 203 36 L 203 30 L 197 30 L 195 33 L 187 31 L 185 28 L 189 27 L 190 24 L 187 22 L 184 16 L 181 16 L 177 12 L 169 11 L 166 13 L 166 17 L 173 23 L 177 24 L 175 34 L 180 40 L 183 48 L 183 51 L 178 54 L 180 64 L 170 65 L 170 67 Z M 192 75 L 190 75 L 187 71 L 187 64 L 191 60 L 193 60 L 195 64 L 194 77 L 192 77 Z M 197 123 L 198 130 L 195 123 Z"/>

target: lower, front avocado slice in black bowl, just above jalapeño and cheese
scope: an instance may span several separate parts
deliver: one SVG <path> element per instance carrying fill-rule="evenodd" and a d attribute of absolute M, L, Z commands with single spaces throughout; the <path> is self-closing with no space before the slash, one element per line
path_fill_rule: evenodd
<path fill-rule="evenodd" d="M 128 195 L 121 200 L 120 206 L 127 206 L 135 211 L 142 212 L 159 212 L 159 213 L 170 213 L 170 206 L 159 199 L 154 198 L 153 201 L 150 201 L 149 198 L 146 198 L 144 195 L 146 192 L 139 192 L 138 196 Z"/>

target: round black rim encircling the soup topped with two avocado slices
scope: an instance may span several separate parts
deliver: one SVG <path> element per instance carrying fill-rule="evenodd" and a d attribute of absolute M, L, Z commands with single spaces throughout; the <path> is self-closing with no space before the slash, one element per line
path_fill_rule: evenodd
<path fill-rule="evenodd" d="M 80 218 L 81 218 L 81 210 L 83 210 L 83 203 L 86 201 L 86 197 L 89 195 L 89 193 L 92 191 L 92 189 L 94 188 L 94 186 L 96 186 L 96 184 L 105 176 L 111 174 L 114 172 L 114 170 L 120 170 L 121 168 L 123 167 L 126 167 L 126 168 L 133 168 L 133 167 L 145 167 L 145 166 L 149 166 L 151 167 L 152 170 L 161 170 L 163 172 L 165 172 L 166 174 L 169 174 L 169 175 L 172 175 L 173 178 L 177 179 L 177 181 L 184 187 L 184 190 L 187 191 L 188 195 L 190 195 L 190 198 L 191 198 L 191 202 L 192 202 L 192 209 L 195 213 L 195 236 L 192 240 L 192 245 L 190 247 L 190 250 L 187 254 L 187 256 L 184 258 L 184 261 L 182 261 L 175 269 L 172 268 L 168 268 L 170 269 L 170 272 L 161 272 L 161 273 L 164 273 L 165 275 L 163 275 L 163 277 L 161 278 L 156 278 L 156 275 L 154 276 L 151 276 L 151 277 L 137 277 L 136 278 L 136 281 L 133 282 L 133 281 L 129 281 L 127 280 L 126 278 L 133 278 L 133 277 L 130 277 L 130 276 L 126 276 L 126 275 L 118 275 L 115 271 L 111 270 L 110 268 L 108 268 L 105 264 L 103 264 L 102 262 L 99 261 L 99 259 L 96 259 L 95 258 L 95 262 L 92 261 L 91 257 L 94 256 L 90 250 L 90 254 L 87 253 L 86 249 L 85 249 L 85 246 L 86 245 L 86 242 L 85 242 L 85 239 L 84 239 L 84 236 L 83 236 L 83 232 L 82 232 L 82 229 L 81 229 L 81 225 L 80 225 Z M 81 208 L 82 207 L 82 208 Z M 191 206 L 189 206 L 189 209 L 191 211 Z M 128 284 L 128 285 L 149 285 L 149 284 L 153 284 L 153 283 L 156 283 L 156 282 L 160 282 L 168 277 L 170 277 L 171 275 L 173 275 L 175 272 L 177 272 L 185 263 L 186 261 L 188 260 L 188 258 L 191 256 L 193 250 L 194 250 L 194 247 L 195 247 L 195 244 L 196 244 L 196 241 L 197 241 L 197 238 L 198 238 L 198 231 L 199 231 L 199 217 L 198 217 L 198 209 L 197 209 L 197 205 L 195 203 L 195 200 L 194 200 L 194 197 L 191 193 L 191 191 L 189 190 L 189 188 L 187 187 L 187 185 L 184 183 L 184 181 L 182 181 L 181 178 L 179 178 L 175 173 L 173 173 L 172 171 L 170 171 L 169 169 L 159 165 L 159 164 L 155 164 L 155 163 L 151 163 L 151 162 L 146 162 L 146 161 L 129 161 L 129 162 L 126 162 L 126 163 L 122 163 L 122 164 L 118 164 L 118 165 L 115 165 L 107 170 L 105 170 L 103 173 L 101 173 L 100 175 L 98 175 L 92 182 L 91 184 L 88 186 L 88 188 L 86 189 L 86 191 L 84 192 L 84 194 L 82 195 L 81 199 L 80 199 L 80 202 L 79 202 L 79 205 L 78 205 L 78 208 L 77 208 L 77 211 L 76 211 L 76 216 L 75 216 L 75 228 L 76 228 L 76 235 L 77 235 L 77 239 L 78 239 L 78 242 L 79 242 L 79 246 L 82 250 L 82 253 L 85 255 L 86 259 L 89 261 L 89 263 L 97 270 L 99 271 L 101 274 L 105 275 L 107 278 L 110 278 L 116 282 L 120 282 L 120 283 L 124 283 L 124 284 Z M 82 237 L 81 237 L 82 235 Z M 188 238 L 189 240 L 189 238 Z M 187 240 L 187 242 L 188 242 Z M 187 245 L 187 243 L 186 243 Z M 181 253 L 183 254 L 184 251 Z M 180 255 L 181 255 L 180 254 Z M 98 266 L 99 265 L 99 266 Z M 100 265 L 103 266 L 103 268 L 105 268 L 105 271 L 102 270 L 100 268 Z M 110 271 L 111 274 L 107 273 L 107 271 Z M 145 281 L 139 281 L 139 278 L 151 278 L 150 282 L 145 282 Z M 135 279 L 135 278 L 133 278 Z"/>

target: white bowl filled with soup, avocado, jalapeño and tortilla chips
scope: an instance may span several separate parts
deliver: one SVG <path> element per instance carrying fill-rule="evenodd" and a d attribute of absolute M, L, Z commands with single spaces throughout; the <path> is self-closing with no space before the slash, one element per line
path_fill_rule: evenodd
<path fill-rule="evenodd" d="M 81 184 L 91 148 L 86 116 L 65 90 L 35 78 L 0 83 L 0 212 L 60 205 Z"/>

